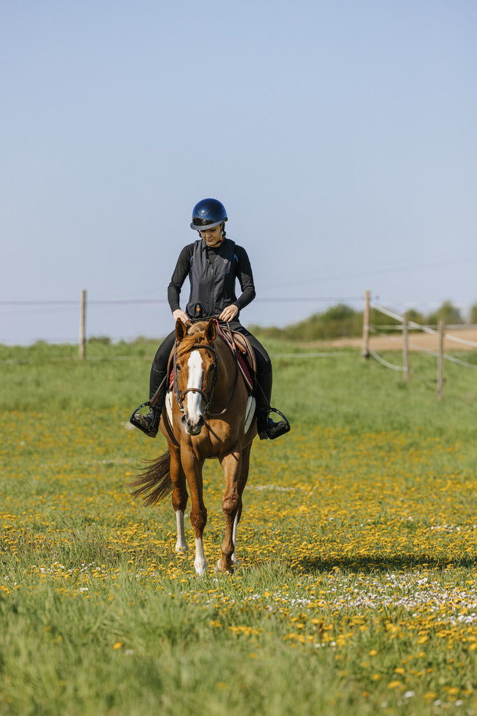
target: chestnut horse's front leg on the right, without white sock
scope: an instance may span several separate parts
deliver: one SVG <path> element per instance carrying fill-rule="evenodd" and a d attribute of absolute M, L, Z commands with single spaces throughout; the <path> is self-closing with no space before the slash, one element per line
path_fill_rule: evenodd
<path fill-rule="evenodd" d="M 225 455 L 220 462 L 225 474 L 225 490 L 222 495 L 222 510 L 225 515 L 225 535 L 224 541 L 222 542 L 222 557 L 217 562 L 217 571 L 232 572 L 234 569 L 232 556 L 235 553 L 234 538 L 235 531 L 237 530 L 235 519 L 242 511 L 242 497 L 238 489 L 238 478 L 242 468 L 242 452 L 240 448 Z"/>

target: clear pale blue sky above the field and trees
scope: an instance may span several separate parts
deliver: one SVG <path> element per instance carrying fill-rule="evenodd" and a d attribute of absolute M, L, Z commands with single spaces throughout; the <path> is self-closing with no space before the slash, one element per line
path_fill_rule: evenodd
<path fill-rule="evenodd" d="M 1 303 L 0 342 L 77 340 L 82 289 L 89 336 L 169 332 L 165 303 L 95 302 L 165 299 L 207 196 L 245 325 L 365 289 L 465 313 L 476 68 L 474 0 L 0 0 L 0 301 L 73 301 Z"/>

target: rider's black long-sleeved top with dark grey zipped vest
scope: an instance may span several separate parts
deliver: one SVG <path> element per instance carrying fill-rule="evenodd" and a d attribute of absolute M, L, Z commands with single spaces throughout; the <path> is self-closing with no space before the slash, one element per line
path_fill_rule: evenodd
<path fill-rule="evenodd" d="M 190 316 L 195 315 L 197 303 L 201 304 L 204 316 L 213 316 L 230 304 L 235 304 L 240 311 L 255 298 L 247 251 L 229 238 L 214 248 L 208 247 L 200 238 L 182 249 L 167 287 L 167 300 L 172 312 L 180 309 L 180 292 L 187 276 L 190 277 L 190 296 L 186 312 Z M 236 279 L 242 289 L 238 299 L 235 295 Z"/>

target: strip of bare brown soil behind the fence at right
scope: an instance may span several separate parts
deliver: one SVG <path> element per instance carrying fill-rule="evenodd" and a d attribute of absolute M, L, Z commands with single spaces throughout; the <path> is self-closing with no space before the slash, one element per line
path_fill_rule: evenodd
<path fill-rule="evenodd" d="M 449 337 L 453 336 L 458 341 L 453 341 Z M 461 340 L 473 342 L 472 345 L 461 343 Z M 334 348 L 341 348 L 345 346 L 351 346 L 353 348 L 361 348 L 363 346 L 363 339 L 361 338 L 339 338 L 335 341 L 327 341 L 327 346 Z M 403 349 L 403 337 L 398 334 L 391 334 L 389 336 L 379 335 L 370 336 L 369 341 L 370 349 L 373 351 L 400 351 Z M 408 337 L 408 349 L 413 350 L 438 350 L 438 335 L 428 333 L 410 333 Z M 444 339 L 444 350 L 445 351 L 471 351 L 477 350 L 477 329 L 456 329 L 453 328 L 446 331 L 446 337 Z"/>

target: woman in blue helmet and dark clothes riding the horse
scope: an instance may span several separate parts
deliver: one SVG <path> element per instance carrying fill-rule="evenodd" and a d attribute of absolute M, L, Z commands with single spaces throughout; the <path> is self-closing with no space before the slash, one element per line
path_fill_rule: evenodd
<path fill-rule="evenodd" d="M 225 207 L 217 199 L 202 199 L 192 211 L 190 227 L 198 231 L 200 238 L 182 249 L 167 289 L 167 300 L 174 321 L 180 319 L 190 326 L 191 319 L 219 316 L 220 321 L 229 321 L 232 331 L 247 336 L 257 361 L 257 430 L 261 440 L 275 438 L 290 430 L 286 420 L 274 422 L 269 413 L 272 395 L 272 364 L 265 348 L 240 324 L 238 316 L 255 298 L 252 269 L 247 252 L 230 238 L 225 238 Z M 185 311 L 179 304 L 180 291 L 185 279 L 190 279 L 190 297 Z M 235 296 L 235 279 L 238 279 L 242 294 Z M 197 311 L 198 309 L 198 311 Z M 155 437 L 167 390 L 167 362 L 174 346 L 175 331 L 164 339 L 157 349 L 152 362 L 149 379 L 149 400 L 157 393 L 154 405 L 148 415 L 133 414 L 133 425 Z M 159 389 L 159 392 L 158 392 Z M 272 411 L 275 412 L 275 411 Z M 281 413 L 280 413 L 281 415 Z M 284 416 L 282 416 L 284 417 Z"/>

